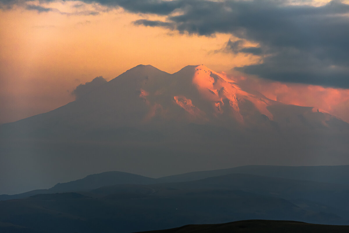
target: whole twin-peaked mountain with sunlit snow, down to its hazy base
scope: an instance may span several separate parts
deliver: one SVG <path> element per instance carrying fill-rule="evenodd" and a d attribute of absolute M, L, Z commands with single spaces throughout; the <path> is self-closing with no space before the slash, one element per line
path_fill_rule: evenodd
<path fill-rule="evenodd" d="M 21 191 L 110 170 L 162 176 L 349 163 L 347 122 L 268 99 L 204 65 L 174 74 L 136 66 L 74 102 L 0 126 L 0 136 L 1 171 L 27 183 Z"/>

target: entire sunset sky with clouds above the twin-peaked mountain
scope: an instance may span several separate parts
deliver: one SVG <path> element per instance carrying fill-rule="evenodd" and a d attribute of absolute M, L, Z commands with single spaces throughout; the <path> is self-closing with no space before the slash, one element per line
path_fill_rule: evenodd
<path fill-rule="evenodd" d="M 205 64 L 349 122 L 348 28 L 349 1 L 0 0 L 0 123 L 139 64 L 168 73 Z"/>

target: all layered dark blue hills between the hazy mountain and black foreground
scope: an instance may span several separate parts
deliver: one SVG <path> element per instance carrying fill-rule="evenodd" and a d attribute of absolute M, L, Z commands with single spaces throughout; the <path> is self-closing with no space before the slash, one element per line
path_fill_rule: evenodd
<path fill-rule="evenodd" d="M 159 233 L 341 233 L 349 226 L 331 225 L 349 225 L 348 176 L 349 166 L 255 165 L 158 179 L 104 172 L 50 189 L 1 195 L 0 232 L 129 233 L 179 227 Z M 269 220 L 241 221 L 247 219 Z M 232 221 L 237 222 L 227 223 Z"/>

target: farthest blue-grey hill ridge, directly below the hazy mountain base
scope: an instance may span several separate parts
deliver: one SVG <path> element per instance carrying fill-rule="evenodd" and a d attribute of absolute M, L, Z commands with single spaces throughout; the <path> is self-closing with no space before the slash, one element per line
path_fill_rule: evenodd
<path fill-rule="evenodd" d="M 88 175 L 83 179 L 69 181 L 66 183 L 57 183 L 49 189 L 38 189 L 15 195 L 0 195 L 0 200 L 11 200 L 26 198 L 36 194 L 50 194 L 67 191 L 90 191 L 99 188 L 105 190 L 114 185 L 147 185 L 155 183 L 173 183 L 195 181 L 205 178 L 222 176 L 228 174 L 250 174 L 259 176 L 268 176 L 272 178 L 286 178 L 287 180 L 315 181 L 320 183 L 333 183 L 349 185 L 349 166 L 267 166 L 267 165 L 248 165 L 233 167 L 228 169 L 190 172 L 185 174 L 164 176 L 161 178 L 149 178 L 146 176 L 135 175 L 126 172 L 103 172 L 99 174 Z M 101 188 L 105 186 L 104 188 Z M 143 189 L 143 186 L 140 186 Z M 122 189 L 123 190 L 123 189 Z M 149 188 L 146 188 L 149 191 Z M 105 192 L 103 192 L 105 193 Z M 108 191 L 110 193 L 110 191 Z"/>

